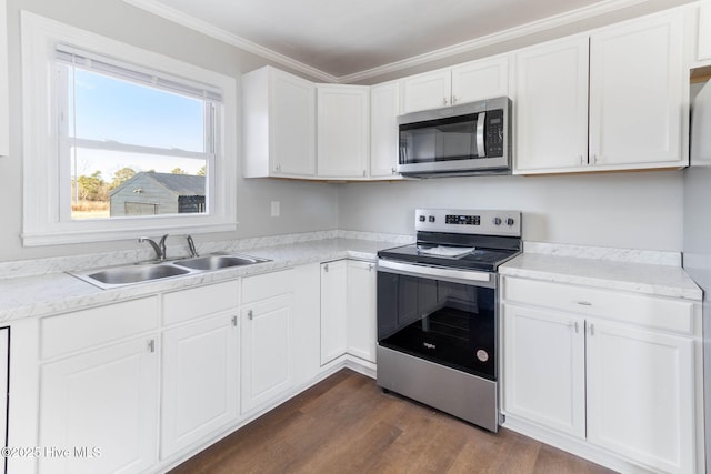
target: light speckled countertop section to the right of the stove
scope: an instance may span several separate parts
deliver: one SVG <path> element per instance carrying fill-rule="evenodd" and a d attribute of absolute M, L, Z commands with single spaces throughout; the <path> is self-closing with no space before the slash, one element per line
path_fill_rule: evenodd
<path fill-rule="evenodd" d="M 701 301 L 679 252 L 528 243 L 499 273 L 555 283 Z"/>

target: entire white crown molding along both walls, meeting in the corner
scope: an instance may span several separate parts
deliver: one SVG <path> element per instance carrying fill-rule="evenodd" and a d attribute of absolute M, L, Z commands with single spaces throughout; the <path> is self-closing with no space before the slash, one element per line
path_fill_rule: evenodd
<path fill-rule="evenodd" d="M 220 40 L 226 43 L 232 44 L 237 48 L 243 49 L 248 52 L 257 54 L 267 60 L 273 61 L 281 65 L 286 65 L 288 68 L 291 68 L 300 72 L 303 72 L 304 74 L 309 74 L 313 78 L 322 80 L 323 82 L 351 83 L 351 82 L 358 82 L 358 81 L 371 79 L 382 74 L 398 72 L 400 70 L 424 64 L 430 61 L 447 59 L 455 54 L 475 51 L 481 48 L 485 48 L 485 47 L 498 44 L 505 41 L 515 40 L 518 38 L 522 38 L 533 33 L 539 33 L 553 28 L 564 27 L 567 24 L 587 20 L 593 17 L 599 17 L 601 14 L 611 13 L 617 10 L 621 10 L 623 8 L 633 7 L 640 3 L 645 3 L 649 0 L 605 0 L 588 7 L 582 7 L 564 13 L 555 14 L 553 17 L 548 17 L 538 21 L 510 28 L 508 30 L 499 31 L 481 38 L 477 38 L 470 41 L 464 41 L 458 44 L 441 48 L 423 54 L 418 54 L 415 57 L 403 59 L 401 61 L 391 62 L 389 64 L 384 64 L 381 67 L 377 67 L 377 68 L 372 68 L 372 69 L 368 69 L 364 71 L 341 75 L 341 77 L 329 74 L 319 69 L 304 64 L 300 61 L 291 59 L 284 54 L 272 51 L 269 48 L 261 47 L 242 37 L 230 33 L 226 30 L 217 28 L 202 20 L 198 20 L 194 17 L 186 14 L 173 8 L 167 7 L 160 3 L 159 0 L 122 0 L 122 1 L 126 3 L 132 4 L 133 7 L 154 13 L 174 23 L 199 31 L 217 40 Z"/>

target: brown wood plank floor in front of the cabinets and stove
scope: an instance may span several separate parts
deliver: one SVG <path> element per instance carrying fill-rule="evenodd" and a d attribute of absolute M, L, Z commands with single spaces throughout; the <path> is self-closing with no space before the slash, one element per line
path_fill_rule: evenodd
<path fill-rule="evenodd" d="M 611 473 L 489 433 L 342 370 L 181 464 L 182 473 Z"/>

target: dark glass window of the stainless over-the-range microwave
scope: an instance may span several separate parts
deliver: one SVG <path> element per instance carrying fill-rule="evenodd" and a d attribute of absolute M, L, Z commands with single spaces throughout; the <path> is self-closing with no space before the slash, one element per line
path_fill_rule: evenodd
<path fill-rule="evenodd" d="M 400 164 L 477 158 L 475 114 L 400 125 Z"/>

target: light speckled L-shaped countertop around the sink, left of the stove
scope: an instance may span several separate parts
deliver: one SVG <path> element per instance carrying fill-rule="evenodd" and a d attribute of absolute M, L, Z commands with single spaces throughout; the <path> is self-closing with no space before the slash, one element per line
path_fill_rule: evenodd
<path fill-rule="evenodd" d="M 404 238 L 407 241 L 407 238 Z M 0 280 L 0 322 L 74 311 L 150 294 L 216 283 L 314 262 L 344 258 L 374 261 L 377 252 L 402 244 L 400 240 L 326 238 L 269 246 L 227 251 L 269 259 L 269 262 L 181 275 L 102 290 L 68 273 L 4 278 Z M 199 249 L 200 250 L 200 249 Z M 224 250 L 224 249 L 223 249 Z M 99 259 L 106 263 L 104 259 Z M 126 263 L 126 262 L 121 262 Z M 91 268 L 91 266 L 89 266 Z"/>

